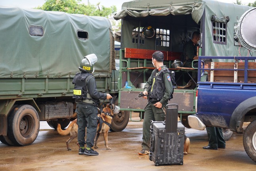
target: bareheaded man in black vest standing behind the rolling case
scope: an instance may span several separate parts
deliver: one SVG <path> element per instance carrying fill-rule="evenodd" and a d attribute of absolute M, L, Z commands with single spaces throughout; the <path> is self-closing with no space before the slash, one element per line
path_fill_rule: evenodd
<path fill-rule="evenodd" d="M 165 107 L 172 98 L 174 75 L 164 65 L 164 54 L 160 51 L 152 55 L 152 63 L 156 69 L 144 86 L 143 98 L 148 98 L 148 104 L 144 108 L 142 150 L 139 155 L 149 154 L 150 150 L 150 124 L 153 121 L 165 120 Z M 174 82 L 174 81 L 173 81 Z M 175 82 L 174 82 L 175 83 Z"/>

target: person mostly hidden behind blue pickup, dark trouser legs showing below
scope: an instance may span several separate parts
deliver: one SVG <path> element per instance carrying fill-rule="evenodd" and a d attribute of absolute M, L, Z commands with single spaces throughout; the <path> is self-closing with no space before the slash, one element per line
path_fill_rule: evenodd
<path fill-rule="evenodd" d="M 204 68 L 209 68 L 212 59 L 204 59 Z M 201 63 L 202 68 L 203 63 Z M 208 81 L 208 75 L 206 80 Z M 208 146 L 203 146 L 206 150 L 218 150 L 218 148 L 226 148 L 226 142 L 223 137 L 223 132 L 221 128 L 218 127 L 206 127 L 207 136 L 209 138 Z"/>

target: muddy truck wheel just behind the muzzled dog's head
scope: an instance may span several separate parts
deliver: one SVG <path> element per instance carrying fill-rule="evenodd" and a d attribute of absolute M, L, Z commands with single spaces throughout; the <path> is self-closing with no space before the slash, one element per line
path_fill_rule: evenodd
<path fill-rule="evenodd" d="M 115 114 L 111 122 L 110 131 L 123 131 L 129 122 L 129 117 L 129 111 L 120 111 L 118 114 Z"/>

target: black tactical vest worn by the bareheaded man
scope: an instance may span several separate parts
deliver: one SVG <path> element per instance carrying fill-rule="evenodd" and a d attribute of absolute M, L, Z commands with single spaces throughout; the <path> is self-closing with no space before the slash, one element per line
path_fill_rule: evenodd
<path fill-rule="evenodd" d="M 158 75 L 156 76 L 156 71 L 157 69 L 155 69 L 152 73 L 153 76 L 153 83 L 152 85 L 149 87 L 149 101 L 150 102 L 159 102 L 163 97 L 164 97 L 164 92 L 166 91 L 166 87 L 164 84 L 164 74 L 165 73 L 169 73 L 170 77 L 171 77 L 171 83 L 173 86 L 173 90 L 174 87 L 176 85 L 175 83 L 175 78 L 174 78 L 174 73 L 171 73 L 169 71 L 168 68 L 162 68 Z M 171 95 L 169 97 L 169 100 L 173 98 L 173 91 L 171 92 Z"/>

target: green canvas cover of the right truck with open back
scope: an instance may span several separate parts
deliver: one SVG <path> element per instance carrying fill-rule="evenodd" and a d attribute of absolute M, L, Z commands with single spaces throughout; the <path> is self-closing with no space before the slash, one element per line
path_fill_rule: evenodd
<path fill-rule="evenodd" d="M 239 44 L 235 45 L 233 37 L 235 23 L 250 8 L 252 7 L 217 0 L 135 0 L 124 2 L 122 10 L 114 18 L 118 20 L 127 16 L 191 15 L 194 22 L 201 25 L 202 56 L 247 56 L 248 50 L 239 48 Z M 212 21 L 227 23 L 225 45 L 213 43 Z"/>

